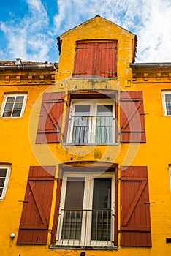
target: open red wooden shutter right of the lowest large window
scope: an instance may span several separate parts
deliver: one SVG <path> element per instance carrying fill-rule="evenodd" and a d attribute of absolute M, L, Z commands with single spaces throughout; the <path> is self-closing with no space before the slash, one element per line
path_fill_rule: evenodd
<path fill-rule="evenodd" d="M 151 246 L 146 166 L 121 167 L 121 246 Z"/>

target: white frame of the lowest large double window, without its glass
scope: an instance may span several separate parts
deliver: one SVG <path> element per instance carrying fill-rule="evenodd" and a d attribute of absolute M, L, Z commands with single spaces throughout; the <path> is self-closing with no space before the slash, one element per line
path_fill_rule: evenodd
<path fill-rule="evenodd" d="M 86 210 L 92 210 L 93 207 L 93 195 L 94 191 L 94 178 L 111 178 L 111 211 L 113 211 L 113 219 L 111 219 L 111 228 L 110 228 L 110 241 L 93 241 L 91 240 L 91 211 L 88 216 L 88 220 L 86 221 L 86 216 L 83 214 L 82 219 L 82 228 L 81 228 L 81 238 L 80 240 L 67 240 L 61 239 L 61 233 L 62 233 L 62 223 L 63 219 L 61 219 L 61 222 L 58 221 L 58 227 L 57 227 L 57 233 L 56 233 L 56 244 L 61 246 L 89 246 L 91 241 L 91 246 L 113 246 L 114 241 L 114 230 L 115 230 L 115 222 L 114 222 L 114 213 L 115 213 L 115 172 L 111 173 L 77 173 L 77 172 L 70 172 L 65 171 L 63 175 L 62 180 L 62 187 L 61 187 L 61 200 L 60 200 L 60 206 L 59 206 L 59 218 L 61 217 L 62 209 L 64 209 L 65 206 L 65 197 L 66 197 L 66 184 L 67 184 L 67 178 L 85 178 L 85 187 L 84 187 L 84 197 L 83 197 L 83 209 Z M 59 220 L 59 219 L 58 219 Z M 85 225 L 87 225 L 86 228 L 86 234 L 84 232 Z"/>

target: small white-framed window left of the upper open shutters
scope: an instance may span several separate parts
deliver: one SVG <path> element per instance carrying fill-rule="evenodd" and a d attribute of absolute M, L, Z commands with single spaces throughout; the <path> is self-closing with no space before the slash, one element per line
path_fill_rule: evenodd
<path fill-rule="evenodd" d="M 26 107 L 27 94 L 5 94 L 1 117 L 21 118 Z"/>

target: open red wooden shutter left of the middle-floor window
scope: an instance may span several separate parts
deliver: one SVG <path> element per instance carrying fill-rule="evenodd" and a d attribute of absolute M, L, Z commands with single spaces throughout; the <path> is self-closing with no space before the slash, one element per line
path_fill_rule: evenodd
<path fill-rule="evenodd" d="M 36 143 L 60 142 L 63 110 L 64 92 L 43 94 Z"/>

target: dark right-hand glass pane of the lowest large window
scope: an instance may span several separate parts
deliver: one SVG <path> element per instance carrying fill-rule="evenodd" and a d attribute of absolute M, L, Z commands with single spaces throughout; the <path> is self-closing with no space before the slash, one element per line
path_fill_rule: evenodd
<path fill-rule="evenodd" d="M 111 178 L 94 178 L 91 239 L 110 241 Z"/>

